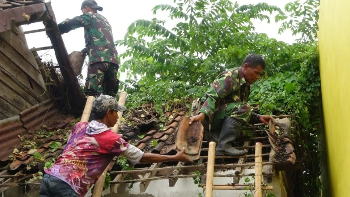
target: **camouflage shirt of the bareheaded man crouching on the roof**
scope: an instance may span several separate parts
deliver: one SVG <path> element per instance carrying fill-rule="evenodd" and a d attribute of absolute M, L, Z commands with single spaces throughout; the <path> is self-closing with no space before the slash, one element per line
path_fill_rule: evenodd
<path fill-rule="evenodd" d="M 243 77 L 239 68 L 232 68 L 219 74 L 211 87 L 205 93 L 205 102 L 200 109 L 209 120 L 212 120 L 218 106 L 233 102 L 247 102 L 250 95 L 250 85 Z"/>

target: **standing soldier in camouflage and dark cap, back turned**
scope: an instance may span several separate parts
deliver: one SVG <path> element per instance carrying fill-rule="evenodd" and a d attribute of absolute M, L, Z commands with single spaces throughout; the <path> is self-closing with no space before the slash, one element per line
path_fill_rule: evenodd
<path fill-rule="evenodd" d="M 118 53 L 114 45 L 112 28 L 107 19 L 97 13 L 103 8 L 94 0 L 85 0 L 83 15 L 66 19 L 58 24 L 61 33 L 84 27 L 85 45 L 89 55 L 89 67 L 84 93 L 98 96 L 101 93 L 115 96 L 118 92 Z"/>

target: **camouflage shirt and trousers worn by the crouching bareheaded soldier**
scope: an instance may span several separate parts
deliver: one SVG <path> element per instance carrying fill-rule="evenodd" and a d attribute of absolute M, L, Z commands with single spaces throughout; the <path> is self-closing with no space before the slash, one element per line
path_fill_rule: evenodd
<path fill-rule="evenodd" d="M 225 116 L 237 118 L 244 124 L 250 121 L 251 116 L 256 120 L 256 114 L 251 113 L 247 103 L 249 95 L 250 85 L 246 83 L 240 68 L 221 73 L 202 98 L 205 102 L 200 112 L 208 117 L 203 126 L 208 129 L 210 125 L 211 131 L 219 132 Z M 254 135 L 252 126 L 245 125 L 242 129 L 244 136 Z"/>

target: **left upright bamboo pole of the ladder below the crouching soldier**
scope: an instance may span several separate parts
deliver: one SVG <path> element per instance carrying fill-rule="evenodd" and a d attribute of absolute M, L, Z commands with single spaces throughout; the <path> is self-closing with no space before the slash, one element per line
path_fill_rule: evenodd
<path fill-rule="evenodd" d="M 208 167 L 207 167 L 207 189 L 205 190 L 205 197 L 213 196 L 213 182 L 214 182 L 214 165 L 215 165 L 215 142 L 209 143 L 208 152 Z"/>

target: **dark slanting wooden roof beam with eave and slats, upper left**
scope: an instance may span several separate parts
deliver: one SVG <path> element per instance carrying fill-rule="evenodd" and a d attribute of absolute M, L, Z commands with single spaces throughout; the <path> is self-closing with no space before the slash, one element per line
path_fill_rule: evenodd
<path fill-rule="evenodd" d="M 10 6 L 11 5 L 11 6 Z M 56 18 L 51 7 L 51 2 L 41 0 L 29 1 L 0 1 L 0 33 L 11 30 L 13 26 L 27 25 L 34 22 L 43 22 L 43 29 L 32 30 L 25 33 L 36 33 L 45 31 L 48 35 L 51 46 L 43 46 L 31 49 L 32 51 L 54 49 L 59 69 L 62 73 L 68 93 L 71 96 L 69 101 L 71 106 L 81 111 L 84 108 L 84 97 L 80 89 L 77 77 L 71 66 L 67 50 L 61 34 L 59 34 Z M 59 81 L 56 81 L 56 84 Z M 57 84 L 60 87 L 60 84 Z M 61 94 L 64 91 L 60 90 Z M 66 95 L 61 95 L 66 97 Z M 67 101 L 67 102 L 69 102 Z M 74 101 L 74 102 L 73 102 Z"/>

